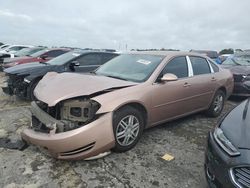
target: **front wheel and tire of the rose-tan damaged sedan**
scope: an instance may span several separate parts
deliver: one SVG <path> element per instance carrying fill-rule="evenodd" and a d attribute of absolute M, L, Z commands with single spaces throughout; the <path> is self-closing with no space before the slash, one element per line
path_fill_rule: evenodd
<path fill-rule="evenodd" d="M 115 136 L 116 152 L 125 152 L 132 149 L 139 141 L 144 128 L 141 112 L 127 106 L 114 113 L 113 132 Z"/>

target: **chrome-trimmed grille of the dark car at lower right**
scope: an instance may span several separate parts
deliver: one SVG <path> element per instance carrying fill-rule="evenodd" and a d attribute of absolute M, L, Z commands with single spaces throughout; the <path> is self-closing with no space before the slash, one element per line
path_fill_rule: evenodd
<path fill-rule="evenodd" d="M 250 167 L 237 167 L 232 170 L 235 183 L 242 188 L 250 188 Z"/>

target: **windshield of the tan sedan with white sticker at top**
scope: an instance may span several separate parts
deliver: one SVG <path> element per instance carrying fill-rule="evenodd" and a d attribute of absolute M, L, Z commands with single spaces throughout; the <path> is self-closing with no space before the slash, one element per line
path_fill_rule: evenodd
<path fill-rule="evenodd" d="M 133 82 L 144 82 L 165 56 L 123 54 L 102 65 L 95 73 Z"/>

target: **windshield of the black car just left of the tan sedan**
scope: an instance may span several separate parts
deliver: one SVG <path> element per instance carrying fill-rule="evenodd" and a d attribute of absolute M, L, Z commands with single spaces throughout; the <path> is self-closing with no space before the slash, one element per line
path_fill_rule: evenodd
<path fill-rule="evenodd" d="M 67 52 L 63 55 L 60 55 L 56 58 L 53 58 L 52 60 L 48 61 L 47 63 L 50 65 L 63 65 L 64 63 L 67 63 L 70 60 L 73 60 L 74 58 L 78 57 L 82 53 L 83 53 L 82 51 Z"/>

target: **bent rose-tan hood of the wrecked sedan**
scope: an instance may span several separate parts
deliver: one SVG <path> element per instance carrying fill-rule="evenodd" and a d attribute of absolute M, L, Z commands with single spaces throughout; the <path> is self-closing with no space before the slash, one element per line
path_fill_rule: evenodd
<path fill-rule="evenodd" d="M 55 106 L 58 102 L 78 96 L 88 96 L 106 89 L 127 87 L 138 83 L 106 76 L 49 72 L 38 83 L 37 99 Z"/>

